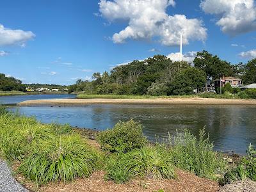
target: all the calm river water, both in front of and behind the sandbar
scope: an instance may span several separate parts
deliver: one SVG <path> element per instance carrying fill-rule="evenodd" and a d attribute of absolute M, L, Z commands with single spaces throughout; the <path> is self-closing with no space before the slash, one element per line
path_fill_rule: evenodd
<path fill-rule="evenodd" d="M 74 95 L 33 95 L 0 97 L 0 102 L 52 99 Z M 119 120 L 140 120 L 151 141 L 166 140 L 168 132 L 189 129 L 197 135 L 205 126 L 216 150 L 245 154 L 249 143 L 256 145 L 255 106 L 135 106 L 89 105 L 81 107 L 21 107 L 20 113 L 35 116 L 44 123 L 58 122 L 77 127 L 104 130 Z M 12 108 L 16 111 L 17 108 Z"/>

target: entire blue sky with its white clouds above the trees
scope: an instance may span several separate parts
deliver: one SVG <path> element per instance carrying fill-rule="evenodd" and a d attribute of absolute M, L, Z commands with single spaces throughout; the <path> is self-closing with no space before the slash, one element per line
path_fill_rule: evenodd
<path fill-rule="evenodd" d="M 253 0 L 153 1 L 2 0 L 0 72 L 24 83 L 73 84 L 154 54 L 175 59 L 180 30 L 184 58 L 203 49 L 234 64 L 256 57 Z"/>

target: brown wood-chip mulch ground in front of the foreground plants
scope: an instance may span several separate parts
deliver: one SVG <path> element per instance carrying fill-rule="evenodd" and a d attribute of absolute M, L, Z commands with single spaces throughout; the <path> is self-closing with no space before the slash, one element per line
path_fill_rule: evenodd
<path fill-rule="evenodd" d="M 24 183 L 26 188 L 31 189 L 31 191 L 44 191 L 44 192 L 58 192 L 58 191 L 90 191 L 90 192 L 132 192 L 132 191 L 145 191 L 153 192 L 163 189 L 164 192 L 171 191 L 218 191 L 219 185 L 217 182 L 213 182 L 208 179 L 202 179 L 196 177 L 188 172 L 183 172 L 177 170 L 178 179 L 133 179 L 127 184 L 115 184 L 113 181 L 106 181 L 104 179 L 104 171 L 97 171 L 93 173 L 89 178 L 77 179 L 73 182 L 68 183 L 50 183 L 44 186 L 41 186 L 38 190 L 36 189 L 35 184 L 33 183 Z M 18 180 L 21 178 L 18 178 Z M 21 180 L 19 180 L 21 181 Z"/>

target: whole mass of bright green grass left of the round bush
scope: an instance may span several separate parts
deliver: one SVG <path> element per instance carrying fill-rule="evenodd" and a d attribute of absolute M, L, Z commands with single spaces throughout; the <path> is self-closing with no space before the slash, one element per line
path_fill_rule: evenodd
<path fill-rule="evenodd" d="M 21 163 L 19 172 L 36 184 L 88 177 L 100 156 L 70 125 L 48 124 L 0 109 L 0 157 Z"/>

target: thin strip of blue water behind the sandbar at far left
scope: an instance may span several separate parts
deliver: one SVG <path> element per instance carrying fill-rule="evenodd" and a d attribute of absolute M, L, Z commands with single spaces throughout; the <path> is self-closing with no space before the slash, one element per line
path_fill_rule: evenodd
<path fill-rule="evenodd" d="M 24 100 L 75 98 L 76 95 L 15 95 L 0 97 L 0 104 L 17 104 Z"/>

